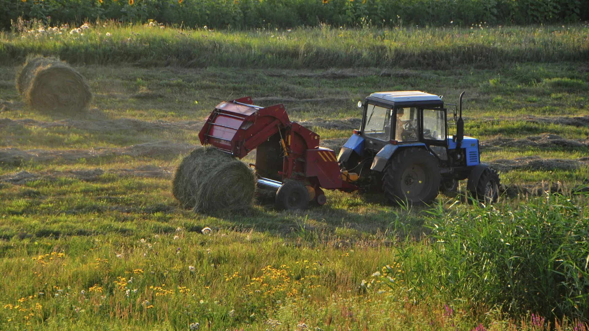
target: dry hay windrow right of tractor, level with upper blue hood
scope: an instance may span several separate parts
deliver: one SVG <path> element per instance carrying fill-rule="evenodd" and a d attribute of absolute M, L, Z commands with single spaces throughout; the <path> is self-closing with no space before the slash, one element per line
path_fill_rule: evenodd
<path fill-rule="evenodd" d="M 481 142 L 481 147 L 538 147 L 538 148 L 580 148 L 589 147 L 589 140 L 573 140 L 555 134 L 531 135 L 526 138 L 495 137 Z"/>

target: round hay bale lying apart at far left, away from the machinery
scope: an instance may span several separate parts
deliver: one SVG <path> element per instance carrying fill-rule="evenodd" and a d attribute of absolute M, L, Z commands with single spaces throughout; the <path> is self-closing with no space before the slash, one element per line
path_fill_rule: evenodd
<path fill-rule="evenodd" d="M 80 72 L 57 58 L 29 57 L 16 75 L 16 90 L 40 111 L 81 111 L 92 100 Z"/>

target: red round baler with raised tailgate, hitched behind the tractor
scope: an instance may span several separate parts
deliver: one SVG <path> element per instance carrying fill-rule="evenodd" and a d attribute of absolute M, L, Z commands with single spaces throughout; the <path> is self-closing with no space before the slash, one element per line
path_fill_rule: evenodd
<path fill-rule="evenodd" d="M 326 202 L 322 188 L 356 190 L 354 173 L 340 169 L 336 154 L 319 147 L 319 135 L 292 122 L 283 104 L 253 105 L 251 97 L 221 102 L 198 134 L 212 145 L 243 158 L 256 150 L 257 184 L 276 188 L 277 207 L 305 209 Z"/>

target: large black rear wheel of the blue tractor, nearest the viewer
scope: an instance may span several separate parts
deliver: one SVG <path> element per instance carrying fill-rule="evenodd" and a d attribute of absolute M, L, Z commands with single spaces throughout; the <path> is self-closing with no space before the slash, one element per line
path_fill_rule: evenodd
<path fill-rule="evenodd" d="M 383 176 L 385 196 L 398 204 L 429 204 L 438 196 L 439 185 L 438 161 L 421 148 L 396 154 Z"/>

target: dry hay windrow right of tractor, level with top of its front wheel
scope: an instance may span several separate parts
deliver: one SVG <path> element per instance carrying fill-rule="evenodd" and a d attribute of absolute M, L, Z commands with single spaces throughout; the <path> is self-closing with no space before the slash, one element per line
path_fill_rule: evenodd
<path fill-rule="evenodd" d="M 575 170 L 589 166 L 589 157 L 567 160 L 563 158 L 541 158 L 538 156 L 518 157 L 512 160 L 501 159 L 488 162 L 497 171 L 510 170 Z"/>

